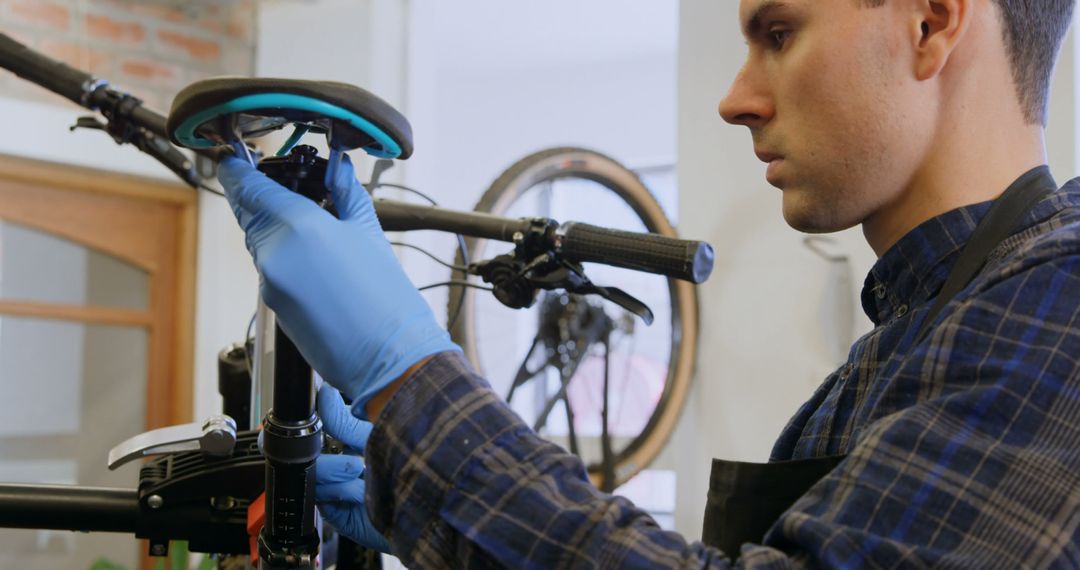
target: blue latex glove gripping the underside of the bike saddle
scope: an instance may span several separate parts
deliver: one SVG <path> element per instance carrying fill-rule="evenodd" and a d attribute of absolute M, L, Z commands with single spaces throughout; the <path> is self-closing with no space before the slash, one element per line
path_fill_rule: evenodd
<path fill-rule="evenodd" d="M 340 219 L 241 159 L 218 168 L 264 301 L 363 417 L 364 404 L 410 366 L 461 349 L 399 264 L 349 158 L 332 153 L 326 178 Z"/>

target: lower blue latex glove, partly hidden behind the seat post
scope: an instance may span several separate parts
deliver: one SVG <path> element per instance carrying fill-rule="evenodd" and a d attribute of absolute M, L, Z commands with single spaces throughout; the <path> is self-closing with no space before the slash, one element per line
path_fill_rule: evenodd
<path fill-rule="evenodd" d="M 346 409 L 341 394 L 323 384 L 319 390 L 319 415 L 326 432 L 363 453 L 369 422 L 357 420 Z M 375 530 L 364 502 L 364 461 L 356 456 L 319 456 L 315 460 L 315 505 L 342 535 L 367 548 L 389 553 L 390 543 Z"/>

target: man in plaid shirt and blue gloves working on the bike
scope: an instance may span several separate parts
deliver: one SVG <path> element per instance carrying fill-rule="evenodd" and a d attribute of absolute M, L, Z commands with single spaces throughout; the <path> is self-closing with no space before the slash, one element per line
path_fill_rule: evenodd
<path fill-rule="evenodd" d="M 359 460 L 321 460 L 324 515 L 415 568 L 1080 566 L 1080 184 L 1050 192 L 1039 167 L 1072 5 L 742 0 L 748 56 L 720 114 L 750 127 L 789 225 L 862 225 L 880 259 L 877 328 L 773 449 L 827 469 L 741 548 L 659 529 L 513 416 L 401 273 L 348 163 L 335 220 L 225 161 L 267 302 L 375 422 L 368 438 L 320 392 L 368 470 L 365 497 Z"/>

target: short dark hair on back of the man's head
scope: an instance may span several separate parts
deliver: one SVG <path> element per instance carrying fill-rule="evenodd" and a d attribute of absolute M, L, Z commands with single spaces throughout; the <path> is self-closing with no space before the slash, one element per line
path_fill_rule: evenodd
<path fill-rule="evenodd" d="M 869 6 L 887 0 L 862 0 Z M 1057 52 L 1072 22 L 1076 0 L 994 0 L 1024 118 L 1047 124 L 1050 81 Z"/>

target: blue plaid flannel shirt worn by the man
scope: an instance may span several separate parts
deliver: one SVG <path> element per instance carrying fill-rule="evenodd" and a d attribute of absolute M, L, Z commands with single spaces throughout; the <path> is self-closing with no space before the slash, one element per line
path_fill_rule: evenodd
<path fill-rule="evenodd" d="M 849 456 L 760 544 L 689 542 L 599 492 L 456 353 L 372 434 L 375 526 L 413 568 L 1080 568 L 1080 182 L 1040 202 L 913 345 L 988 209 L 927 221 L 875 264 L 876 328 L 772 452 Z"/>

